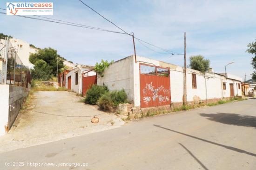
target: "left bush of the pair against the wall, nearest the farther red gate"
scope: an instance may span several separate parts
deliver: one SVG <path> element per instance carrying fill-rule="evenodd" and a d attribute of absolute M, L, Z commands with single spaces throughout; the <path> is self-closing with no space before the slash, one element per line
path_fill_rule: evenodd
<path fill-rule="evenodd" d="M 93 85 L 86 92 L 85 103 L 95 105 L 96 102 L 100 99 L 100 97 L 107 92 L 108 92 L 107 86 Z"/>

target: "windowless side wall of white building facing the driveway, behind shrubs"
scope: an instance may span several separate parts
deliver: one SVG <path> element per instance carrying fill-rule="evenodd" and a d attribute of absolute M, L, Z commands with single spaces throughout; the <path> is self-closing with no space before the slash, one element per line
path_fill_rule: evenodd
<path fill-rule="evenodd" d="M 128 100 L 134 100 L 134 58 L 126 57 L 112 63 L 104 70 L 104 76 L 98 75 L 97 85 L 108 86 L 109 90 L 125 90 Z"/>

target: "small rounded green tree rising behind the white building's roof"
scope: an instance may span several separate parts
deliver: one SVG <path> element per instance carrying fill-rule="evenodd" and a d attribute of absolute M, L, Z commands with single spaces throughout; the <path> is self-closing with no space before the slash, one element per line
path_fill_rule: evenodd
<path fill-rule="evenodd" d="M 209 70 L 209 67 L 210 67 L 209 59 L 204 59 L 203 56 L 197 55 L 197 56 L 189 57 L 189 60 L 190 60 L 189 67 L 191 69 L 199 70 L 202 73 L 205 73 L 207 70 Z"/>

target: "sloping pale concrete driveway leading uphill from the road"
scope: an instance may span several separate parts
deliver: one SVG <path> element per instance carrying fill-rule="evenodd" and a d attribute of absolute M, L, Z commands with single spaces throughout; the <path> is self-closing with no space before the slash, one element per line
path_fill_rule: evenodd
<path fill-rule="evenodd" d="M 40 145 L 120 127 L 114 114 L 78 102 L 81 97 L 66 91 L 38 91 L 30 111 L 19 114 L 7 135 L 0 137 L 0 152 Z M 33 111 L 32 111 L 33 110 Z M 91 123 L 97 115 L 99 123 Z"/>

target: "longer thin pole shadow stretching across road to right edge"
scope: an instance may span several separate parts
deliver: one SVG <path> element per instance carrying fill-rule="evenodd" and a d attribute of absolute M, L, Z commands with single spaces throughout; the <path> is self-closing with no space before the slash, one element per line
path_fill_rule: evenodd
<path fill-rule="evenodd" d="M 221 146 L 221 147 L 226 148 L 226 149 L 229 149 L 229 150 L 231 150 L 231 151 L 236 151 L 236 152 L 240 152 L 240 153 L 244 153 L 244 154 L 247 154 L 247 155 L 251 155 L 251 156 L 253 156 L 253 157 L 256 157 L 256 154 L 255 154 L 255 153 L 251 153 L 251 152 L 248 152 L 248 151 L 244 151 L 244 150 L 242 150 L 242 149 L 238 149 L 238 148 L 235 148 L 235 147 L 232 147 L 232 146 L 227 146 L 227 145 L 218 144 L 218 143 L 216 143 L 216 142 L 212 142 L 212 141 L 209 141 L 209 140 L 206 140 L 206 139 L 198 138 L 198 137 L 195 137 L 195 136 L 192 136 L 192 135 L 189 135 L 189 134 L 186 134 L 186 133 L 178 132 L 178 131 L 175 131 L 175 130 L 172 130 L 172 129 L 168 129 L 168 128 L 166 128 L 166 127 L 162 127 L 162 126 L 159 126 L 159 125 L 153 125 L 153 126 L 160 127 L 160 128 L 162 128 L 162 129 L 165 129 L 165 130 L 168 130 L 168 131 L 171 131 L 171 132 L 179 133 L 179 134 L 188 136 L 188 137 L 190 137 L 190 138 L 198 139 L 198 140 L 201 140 L 201 141 L 203 141 L 203 142 L 207 142 L 207 143 L 209 143 L 209 144 Z"/>

